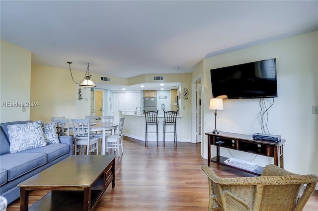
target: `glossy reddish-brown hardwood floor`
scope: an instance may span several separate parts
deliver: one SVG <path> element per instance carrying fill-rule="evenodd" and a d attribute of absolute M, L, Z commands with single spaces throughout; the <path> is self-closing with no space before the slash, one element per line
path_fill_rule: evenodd
<path fill-rule="evenodd" d="M 100 149 L 99 149 L 100 151 Z M 113 154 L 114 152 L 110 152 Z M 145 142 L 124 138 L 124 154 L 116 157 L 116 184 L 107 188 L 95 211 L 206 211 L 208 178 L 201 170 L 201 144 Z M 211 163 L 224 177 L 254 176 Z M 29 206 L 47 191 L 30 193 Z M 19 199 L 7 211 L 18 211 Z M 316 191 L 304 211 L 318 211 Z"/>

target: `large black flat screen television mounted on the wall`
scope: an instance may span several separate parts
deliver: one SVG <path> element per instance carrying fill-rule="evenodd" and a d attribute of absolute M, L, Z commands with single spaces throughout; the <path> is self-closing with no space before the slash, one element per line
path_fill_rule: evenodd
<path fill-rule="evenodd" d="M 277 97 L 276 58 L 211 69 L 212 95 L 228 99 Z"/>

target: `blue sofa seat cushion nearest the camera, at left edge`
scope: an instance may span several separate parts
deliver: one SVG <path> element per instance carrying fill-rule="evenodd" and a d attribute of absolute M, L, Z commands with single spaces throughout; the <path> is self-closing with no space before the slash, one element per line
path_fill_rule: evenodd
<path fill-rule="evenodd" d="M 7 181 L 26 174 L 46 163 L 45 153 L 14 153 L 0 157 L 1 169 L 7 170 Z"/>

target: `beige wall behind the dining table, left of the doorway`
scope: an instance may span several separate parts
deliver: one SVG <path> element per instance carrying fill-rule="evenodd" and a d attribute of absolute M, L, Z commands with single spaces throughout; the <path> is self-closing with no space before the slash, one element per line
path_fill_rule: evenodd
<path fill-rule="evenodd" d="M 72 70 L 79 82 L 84 72 Z M 90 88 L 81 88 L 83 100 L 79 101 L 79 85 L 72 81 L 70 70 L 32 65 L 31 101 L 39 102 L 31 108 L 30 119 L 50 122 L 53 116 L 84 118 L 90 115 Z"/>

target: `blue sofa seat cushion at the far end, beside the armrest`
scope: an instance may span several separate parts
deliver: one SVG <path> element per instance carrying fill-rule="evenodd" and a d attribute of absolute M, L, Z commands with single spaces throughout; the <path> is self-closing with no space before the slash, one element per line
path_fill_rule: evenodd
<path fill-rule="evenodd" d="M 47 162 L 50 162 L 56 158 L 59 158 L 70 152 L 70 145 L 68 144 L 49 144 L 45 147 L 34 148 L 25 150 L 21 153 L 45 153 L 47 155 Z"/>

